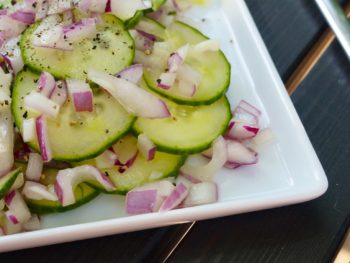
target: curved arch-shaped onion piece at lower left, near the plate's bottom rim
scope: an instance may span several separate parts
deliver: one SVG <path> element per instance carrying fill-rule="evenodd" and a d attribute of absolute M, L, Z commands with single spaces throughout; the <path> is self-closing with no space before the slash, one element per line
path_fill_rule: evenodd
<path fill-rule="evenodd" d="M 91 165 L 78 166 L 58 172 L 55 183 L 55 191 L 62 206 L 75 203 L 74 189 L 82 182 L 96 181 L 106 191 L 114 191 L 115 187 L 107 176 Z"/>

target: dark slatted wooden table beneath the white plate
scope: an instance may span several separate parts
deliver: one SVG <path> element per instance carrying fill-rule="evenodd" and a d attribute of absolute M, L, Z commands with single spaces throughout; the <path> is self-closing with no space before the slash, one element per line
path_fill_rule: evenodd
<path fill-rule="evenodd" d="M 312 0 L 246 0 L 284 81 L 327 27 Z M 329 190 L 303 204 L 197 222 L 169 262 L 330 262 L 350 223 L 350 63 L 335 42 L 292 96 Z M 188 225 L 0 255 L 0 262 L 159 262 Z"/>

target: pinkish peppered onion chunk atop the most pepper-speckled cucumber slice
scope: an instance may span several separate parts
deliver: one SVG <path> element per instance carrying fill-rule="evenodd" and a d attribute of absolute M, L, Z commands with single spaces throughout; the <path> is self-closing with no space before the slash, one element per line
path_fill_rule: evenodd
<path fill-rule="evenodd" d="M 63 29 L 64 39 L 70 42 L 79 42 L 83 39 L 92 38 L 96 32 L 96 19 L 86 18 L 79 23 Z"/>

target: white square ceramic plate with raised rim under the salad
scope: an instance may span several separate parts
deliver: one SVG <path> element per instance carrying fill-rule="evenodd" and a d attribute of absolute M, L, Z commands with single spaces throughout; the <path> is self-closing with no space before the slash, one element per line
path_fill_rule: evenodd
<path fill-rule="evenodd" d="M 307 201 L 323 194 L 326 175 L 243 0 L 209 1 L 181 20 L 220 40 L 232 65 L 232 105 L 245 99 L 263 111 L 277 141 L 257 165 L 222 170 L 219 202 L 127 216 L 124 200 L 101 195 L 71 212 L 43 217 L 43 229 L 0 237 L 0 252 L 233 215 Z"/>

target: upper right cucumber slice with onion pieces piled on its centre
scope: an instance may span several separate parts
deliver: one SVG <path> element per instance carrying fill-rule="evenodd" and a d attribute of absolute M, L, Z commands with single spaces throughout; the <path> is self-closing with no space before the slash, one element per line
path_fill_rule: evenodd
<path fill-rule="evenodd" d="M 155 47 L 151 55 L 140 54 L 151 62 L 144 72 L 147 85 L 160 95 L 184 105 L 208 105 L 220 99 L 229 87 L 231 70 L 222 51 L 202 54 L 190 49 L 185 63 L 202 75 L 202 81 L 193 97 L 183 96 L 177 83 L 169 90 L 157 87 L 157 79 L 165 72 L 172 52 L 187 43 L 195 45 L 208 39 L 195 28 L 179 21 L 167 28 L 166 35 L 166 41 Z"/>

